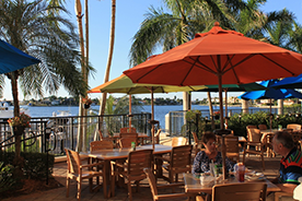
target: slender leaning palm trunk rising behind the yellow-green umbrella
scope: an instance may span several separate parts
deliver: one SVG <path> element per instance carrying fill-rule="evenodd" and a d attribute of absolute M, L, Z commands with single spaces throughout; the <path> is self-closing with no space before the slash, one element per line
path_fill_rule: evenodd
<path fill-rule="evenodd" d="M 109 45 L 109 52 L 108 52 L 104 83 L 108 82 L 108 80 L 109 80 L 109 72 L 111 72 L 112 60 L 113 60 L 114 39 L 115 39 L 115 13 L 116 13 L 116 0 L 112 0 L 111 45 Z M 106 98 L 107 98 L 107 93 L 103 93 L 102 99 L 101 99 L 101 107 L 100 107 L 100 111 L 98 111 L 98 115 L 101 115 L 101 116 L 104 115 L 104 113 L 105 113 Z M 97 126 L 98 128 L 96 130 L 101 129 L 102 123 L 103 123 L 103 117 L 101 117 L 100 123 Z M 96 139 L 96 138 L 97 138 L 97 132 L 94 133 L 94 139 Z"/>

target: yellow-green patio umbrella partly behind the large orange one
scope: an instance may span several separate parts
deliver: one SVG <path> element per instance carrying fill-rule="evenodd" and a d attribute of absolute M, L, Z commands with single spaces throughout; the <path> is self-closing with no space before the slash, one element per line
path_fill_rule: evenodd
<path fill-rule="evenodd" d="M 154 122 L 154 104 L 153 93 L 169 93 L 169 92 L 193 92 L 204 90 L 205 85 L 195 86 L 175 86 L 175 85 L 163 85 L 163 84 L 140 84 L 133 83 L 127 75 L 121 74 L 120 76 L 101 84 L 88 93 L 125 93 L 129 94 L 129 115 L 131 115 L 131 94 L 149 94 L 151 93 L 151 122 Z M 131 118 L 130 118 L 131 119 Z M 131 126 L 131 120 L 129 120 Z M 152 125 L 152 144 L 154 145 L 154 125 Z"/>

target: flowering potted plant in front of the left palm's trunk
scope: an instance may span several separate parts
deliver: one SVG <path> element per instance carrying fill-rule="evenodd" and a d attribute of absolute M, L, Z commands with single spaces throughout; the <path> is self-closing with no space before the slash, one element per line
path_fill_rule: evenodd
<path fill-rule="evenodd" d="M 31 117 L 25 113 L 21 113 L 20 117 L 13 117 L 8 120 L 14 135 L 21 135 L 25 128 L 30 128 Z"/>

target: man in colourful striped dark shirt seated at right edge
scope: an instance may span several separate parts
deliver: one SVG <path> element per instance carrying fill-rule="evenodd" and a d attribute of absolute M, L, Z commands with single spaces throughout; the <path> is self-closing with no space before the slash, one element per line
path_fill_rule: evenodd
<path fill-rule="evenodd" d="M 292 137 L 287 131 L 276 132 L 272 139 L 272 149 L 282 156 L 280 161 L 279 176 L 272 180 L 283 192 L 293 193 L 294 188 L 300 185 L 302 177 L 302 155 L 294 146 Z M 274 193 L 267 200 L 274 200 Z M 293 200 L 287 198 L 284 200 Z"/>

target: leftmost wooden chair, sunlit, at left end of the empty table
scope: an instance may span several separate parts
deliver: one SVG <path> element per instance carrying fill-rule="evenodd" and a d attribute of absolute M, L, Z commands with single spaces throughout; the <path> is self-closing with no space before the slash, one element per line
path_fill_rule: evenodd
<path fill-rule="evenodd" d="M 67 182 L 66 182 L 66 197 L 69 197 L 69 186 L 70 186 L 70 179 L 74 179 L 78 182 L 78 194 L 77 199 L 81 199 L 81 190 L 82 190 L 82 180 L 83 179 L 89 179 L 89 186 L 90 186 L 90 191 L 92 192 L 93 190 L 96 190 L 100 188 L 100 185 L 96 185 L 93 188 L 93 182 L 92 178 L 96 177 L 100 178 L 100 176 L 103 176 L 103 172 L 95 172 L 95 170 L 85 170 L 85 168 L 92 168 L 92 167 L 97 167 L 100 165 L 103 165 L 104 163 L 94 163 L 94 164 L 85 164 L 82 165 L 81 158 L 78 152 L 74 152 L 69 149 L 65 149 L 66 155 L 67 155 L 67 164 L 68 164 L 68 169 L 67 169 Z M 98 182 L 97 182 L 98 184 Z M 104 197 L 106 197 L 106 187 L 104 187 Z"/>

